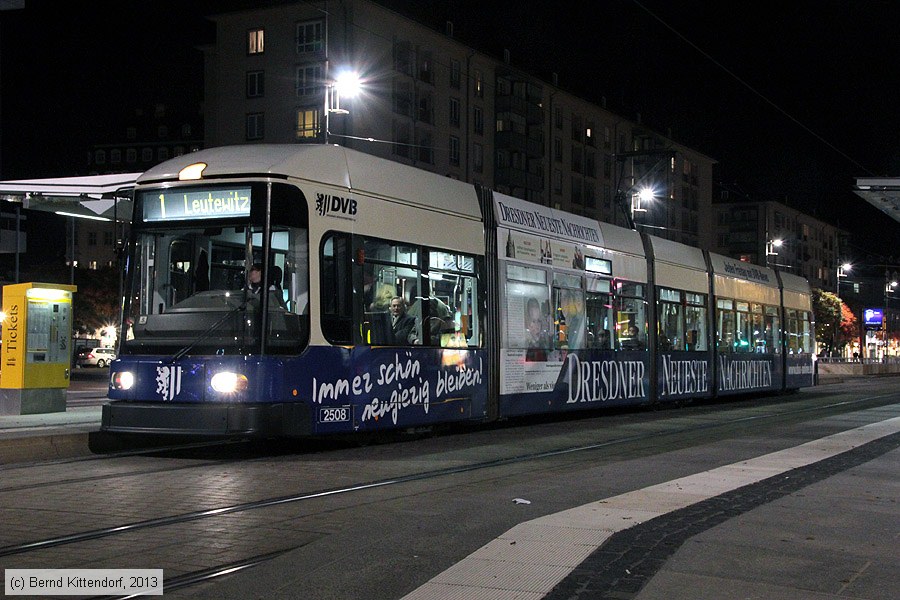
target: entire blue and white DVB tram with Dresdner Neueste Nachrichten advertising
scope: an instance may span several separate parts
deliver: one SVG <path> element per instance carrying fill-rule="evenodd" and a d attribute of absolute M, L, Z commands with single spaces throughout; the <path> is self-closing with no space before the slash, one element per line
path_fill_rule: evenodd
<path fill-rule="evenodd" d="M 147 171 L 125 278 L 107 432 L 305 437 L 813 384 L 805 279 L 340 146 Z"/>

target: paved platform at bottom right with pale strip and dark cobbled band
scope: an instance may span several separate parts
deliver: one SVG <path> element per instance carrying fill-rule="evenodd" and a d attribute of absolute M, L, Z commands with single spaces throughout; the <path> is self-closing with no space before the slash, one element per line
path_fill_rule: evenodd
<path fill-rule="evenodd" d="M 521 523 L 404 600 L 890 599 L 900 417 Z"/>

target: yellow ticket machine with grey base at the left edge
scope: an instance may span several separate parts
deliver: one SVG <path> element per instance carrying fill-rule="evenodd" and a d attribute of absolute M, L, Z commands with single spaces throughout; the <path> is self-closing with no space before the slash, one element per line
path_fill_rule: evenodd
<path fill-rule="evenodd" d="M 74 285 L 3 286 L 0 415 L 65 412 Z"/>

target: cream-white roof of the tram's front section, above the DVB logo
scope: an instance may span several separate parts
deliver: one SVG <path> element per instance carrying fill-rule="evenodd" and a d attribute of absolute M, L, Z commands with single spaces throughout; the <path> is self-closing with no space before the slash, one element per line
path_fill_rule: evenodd
<path fill-rule="evenodd" d="M 343 146 L 258 144 L 209 148 L 152 167 L 138 178 L 138 184 L 177 180 L 184 167 L 198 162 L 207 165 L 202 179 L 282 175 L 481 219 L 473 185 Z"/>

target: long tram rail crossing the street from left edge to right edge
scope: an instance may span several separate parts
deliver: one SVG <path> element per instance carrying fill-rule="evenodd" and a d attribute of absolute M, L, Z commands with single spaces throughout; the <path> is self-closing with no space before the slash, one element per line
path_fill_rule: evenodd
<path fill-rule="evenodd" d="M 736 418 L 724 419 L 724 420 L 716 420 L 705 424 L 700 425 L 692 425 L 689 427 L 679 427 L 674 429 L 664 429 L 661 431 L 651 431 L 646 433 L 638 433 L 633 435 L 626 435 L 617 437 L 614 439 L 606 440 L 603 442 L 592 443 L 592 444 L 581 444 L 577 446 L 569 446 L 569 447 L 560 447 L 550 450 L 542 450 L 539 452 L 533 453 L 524 453 L 518 454 L 515 456 L 509 456 L 504 458 L 473 462 L 469 464 L 447 467 L 441 469 L 434 470 L 426 470 L 420 471 L 416 473 L 410 473 L 406 475 L 401 475 L 397 477 L 389 477 L 380 480 L 368 481 L 368 482 L 360 482 L 353 485 L 345 485 L 334 488 L 327 488 L 322 490 L 317 490 L 313 492 L 303 492 L 296 494 L 286 494 L 273 496 L 269 498 L 254 500 L 250 502 L 242 502 L 236 503 L 232 505 L 220 506 L 209 509 L 195 510 L 195 511 L 187 511 L 180 514 L 173 514 L 162 517 L 155 517 L 150 519 L 145 519 L 141 521 L 134 521 L 130 523 L 123 523 L 115 526 L 97 528 L 92 530 L 85 530 L 81 532 L 75 532 L 72 534 L 59 535 L 48 537 L 45 539 L 34 540 L 31 542 L 20 543 L 20 544 L 12 544 L 4 547 L 0 547 L 0 558 L 7 556 L 16 556 L 23 555 L 31 552 L 37 552 L 49 548 L 55 548 L 59 546 L 66 546 L 71 544 L 82 543 L 90 540 L 98 540 L 109 538 L 112 536 L 123 535 L 126 533 L 138 532 L 150 528 L 159 528 L 166 526 L 179 525 L 194 521 L 201 521 L 206 519 L 214 519 L 218 517 L 222 517 L 225 515 L 231 515 L 236 513 L 246 513 L 249 511 L 262 510 L 277 506 L 283 506 L 286 504 L 294 504 L 299 502 L 306 502 L 310 500 L 320 500 L 329 497 L 336 496 L 345 496 L 355 493 L 360 493 L 364 491 L 370 491 L 378 488 L 386 488 L 391 486 L 397 486 L 402 484 L 408 484 L 412 482 L 419 481 L 427 481 L 431 479 L 437 479 L 441 477 L 448 477 L 452 475 L 470 473 L 474 471 L 481 471 L 486 469 L 498 468 L 503 466 L 515 465 L 520 463 L 526 463 L 530 461 L 539 461 L 547 458 L 560 457 L 564 455 L 574 455 L 578 453 L 584 452 L 592 452 L 598 450 L 609 449 L 617 446 L 625 446 L 627 444 L 633 443 L 642 443 L 648 442 L 652 440 L 657 440 L 664 437 L 671 436 L 684 436 L 687 434 L 697 433 L 701 431 L 708 431 L 714 429 L 727 429 L 735 426 L 741 426 L 746 423 L 759 422 L 767 419 L 795 419 L 801 417 L 803 415 L 816 413 L 817 417 L 828 416 L 829 414 L 835 412 L 847 412 L 849 410 L 860 410 L 868 407 L 880 406 L 884 404 L 890 404 L 894 402 L 897 398 L 896 393 L 888 393 L 874 396 L 867 396 L 858 399 L 850 399 L 850 400 L 841 400 L 838 402 L 832 402 L 824 405 L 813 405 L 813 406 L 802 406 L 802 407 L 790 407 L 785 404 L 776 404 L 773 405 L 773 408 L 784 408 L 785 410 L 773 410 L 764 414 L 756 414 L 756 415 L 747 415 L 740 416 Z M 200 465 L 191 465 L 190 467 L 183 468 L 199 468 Z M 176 469 L 170 469 L 172 471 Z M 165 472 L 165 469 L 160 470 L 161 472 Z M 124 476 L 124 475 L 123 475 Z M 114 475 L 110 475 L 109 477 L 114 477 Z"/>

